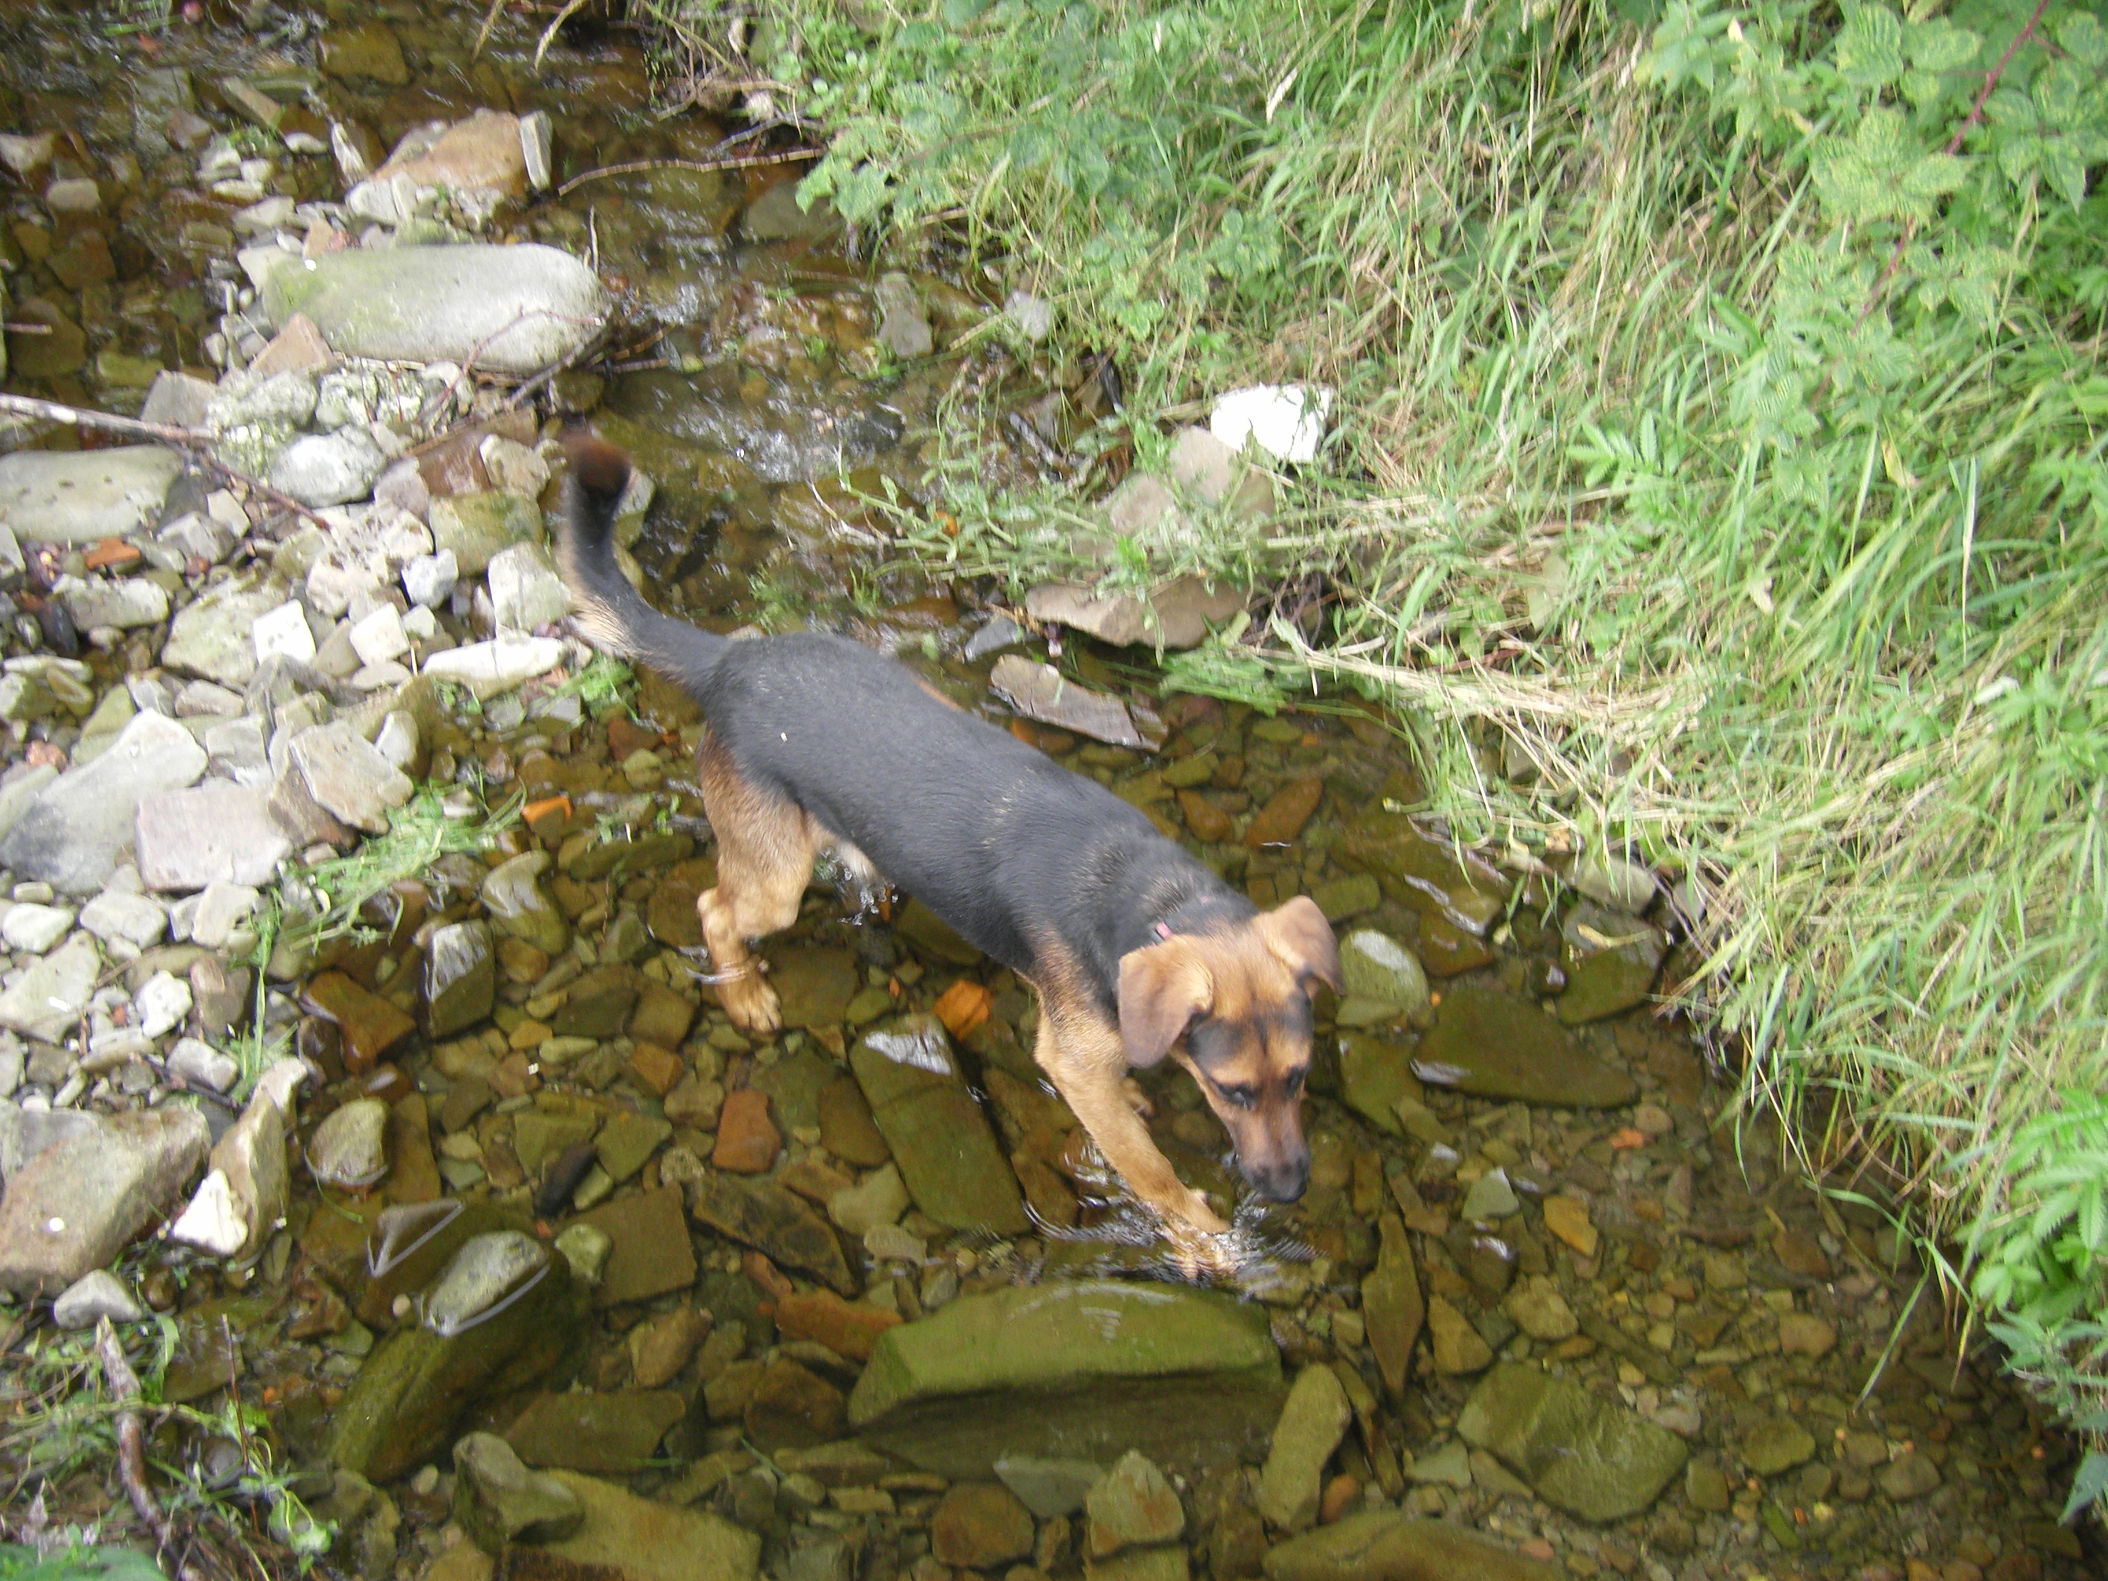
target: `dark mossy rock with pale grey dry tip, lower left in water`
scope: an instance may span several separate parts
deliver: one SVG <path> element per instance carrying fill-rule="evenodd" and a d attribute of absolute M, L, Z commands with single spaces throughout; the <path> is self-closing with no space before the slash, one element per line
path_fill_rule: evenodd
<path fill-rule="evenodd" d="M 476 1400 L 548 1374 L 584 1322 L 586 1292 L 563 1258 L 519 1231 L 472 1237 L 426 1296 L 424 1320 L 358 1368 L 331 1421 L 329 1461 L 373 1482 L 415 1469 Z"/>

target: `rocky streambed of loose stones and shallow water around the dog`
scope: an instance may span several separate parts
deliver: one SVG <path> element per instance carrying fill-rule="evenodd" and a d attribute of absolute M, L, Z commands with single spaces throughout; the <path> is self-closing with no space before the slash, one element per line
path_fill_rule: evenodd
<path fill-rule="evenodd" d="M 883 571 L 946 390 L 1029 453 L 1088 422 L 1046 304 L 873 278 L 784 169 L 554 200 L 729 129 L 653 118 L 632 36 L 538 67 L 481 13 L 6 23 L 8 388 L 154 426 L 0 455 L 8 1539 L 154 1547 L 61 1431 L 108 1320 L 171 1575 L 230 1530 L 405 1581 L 2091 1573 L 2066 1444 L 1885 1218 L 1720 1121 L 1653 1001 L 1689 896 L 1461 850 L 1360 704 L 1126 683 L 1235 592 Z M 816 883 L 786 1031 L 717 1010 L 702 723 L 548 559 L 580 413 L 662 603 L 881 643 L 1320 900 L 1305 1199 L 1143 1079 L 1235 1282 L 1162 1263 L 1031 995 L 911 898 Z M 1075 559 L 1271 502 L 1187 430 Z"/>

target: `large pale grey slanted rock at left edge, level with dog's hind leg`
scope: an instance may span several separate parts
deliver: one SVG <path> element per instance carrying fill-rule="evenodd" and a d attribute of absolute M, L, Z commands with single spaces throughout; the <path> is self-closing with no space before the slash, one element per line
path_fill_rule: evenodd
<path fill-rule="evenodd" d="M 204 748 L 188 729 L 162 715 L 135 715 L 93 763 L 38 793 L 0 839 L 0 862 L 65 894 L 101 890 L 133 839 L 139 801 L 200 774 Z"/>

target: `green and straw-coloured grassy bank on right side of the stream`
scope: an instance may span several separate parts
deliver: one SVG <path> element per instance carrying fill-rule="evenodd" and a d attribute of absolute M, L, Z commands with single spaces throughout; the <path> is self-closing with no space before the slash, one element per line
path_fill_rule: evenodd
<path fill-rule="evenodd" d="M 1265 535 L 1121 546 L 1305 594 L 1178 681 L 1387 696 L 1461 831 L 1682 875 L 1748 1096 L 2102 1427 L 2095 8 L 774 0 L 755 55 L 807 192 L 1054 301 L 1143 460 L 1341 392 Z M 1088 500 L 946 510 L 919 552 L 1024 580 Z"/>

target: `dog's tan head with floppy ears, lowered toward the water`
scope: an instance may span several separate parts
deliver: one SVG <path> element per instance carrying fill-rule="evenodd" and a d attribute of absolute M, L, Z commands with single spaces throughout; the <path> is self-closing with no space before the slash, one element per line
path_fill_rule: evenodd
<path fill-rule="evenodd" d="M 1244 1178 L 1269 1202 L 1301 1197 L 1311 1172 L 1301 1105 L 1313 980 L 1339 991 L 1339 944 L 1307 896 L 1119 957 L 1128 1065 L 1176 1058 L 1229 1128 Z"/>

